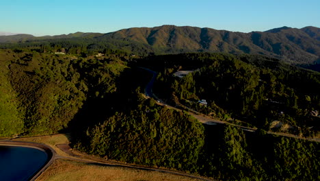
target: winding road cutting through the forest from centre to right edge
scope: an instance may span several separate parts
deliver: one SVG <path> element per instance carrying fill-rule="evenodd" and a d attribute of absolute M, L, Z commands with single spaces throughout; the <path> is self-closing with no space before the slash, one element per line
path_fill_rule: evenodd
<path fill-rule="evenodd" d="M 168 108 L 173 108 L 175 110 L 180 110 L 182 111 L 181 109 L 179 108 L 176 108 L 174 106 L 169 106 L 168 104 L 166 104 L 165 102 L 161 101 L 161 99 L 159 99 L 156 95 L 154 95 L 152 93 L 152 86 L 153 84 L 155 83 L 155 79 L 157 77 L 157 73 L 155 71 L 152 71 L 150 69 L 146 69 L 144 67 L 140 67 L 141 69 L 144 69 L 146 71 L 148 71 L 149 73 L 152 73 L 152 79 L 150 80 L 150 82 L 148 82 L 147 86 L 146 86 L 146 89 L 145 89 L 145 95 L 147 97 L 152 97 L 154 98 L 155 100 L 157 100 L 159 103 L 161 103 L 162 105 L 165 105 L 167 106 Z M 183 106 L 183 105 L 182 105 Z M 244 131 L 248 131 L 248 132 L 255 132 L 257 130 L 257 128 L 250 128 L 250 127 L 245 127 L 245 126 L 242 126 L 242 125 L 236 125 L 234 123 L 228 123 L 226 121 L 221 121 L 221 120 L 217 120 L 217 119 L 213 119 L 211 117 L 208 117 L 196 110 L 193 110 L 191 108 L 188 108 L 187 106 L 183 106 L 184 108 L 186 108 L 187 110 L 189 110 L 189 114 L 191 114 L 193 117 L 195 117 L 196 119 L 198 119 L 199 122 L 201 123 L 204 123 L 204 124 L 207 124 L 207 125 L 215 125 L 217 123 L 220 123 L 220 124 L 229 124 L 229 125 L 234 125 L 234 126 L 237 126 L 239 128 L 241 128 L 241 130 L 244 130 Z M 294 134 L 286 134 L 286 133 L 277 133 L 277 132 L 270 132 L 268 131 L 267 134 L 276 134 L 278 136 L 286 136 L 286 137 L 291 137 L 291 138 L 298 138 L 298 139 L 303 139 L 303 140 L 308 140 L 308 141 L 316 141 L 316 142 L 320 142 L 320 138 L 301 138 L 299 136 L 295 136 Z"/>

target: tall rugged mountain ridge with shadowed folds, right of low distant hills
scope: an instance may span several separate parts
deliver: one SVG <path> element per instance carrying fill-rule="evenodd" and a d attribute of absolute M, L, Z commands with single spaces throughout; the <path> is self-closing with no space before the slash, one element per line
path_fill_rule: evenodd
<path fill-rule="evenodd" d="M 158 53 L 251 53 L 281 57 L 295 62 L 313 62 L 319 60 L 320 56 L 319 31 L 317 27 L 304 27 L 246 34 L 210 28 L 164 25 L 122 29 L 103 37 L 135 40 L 152 46 Z"/>

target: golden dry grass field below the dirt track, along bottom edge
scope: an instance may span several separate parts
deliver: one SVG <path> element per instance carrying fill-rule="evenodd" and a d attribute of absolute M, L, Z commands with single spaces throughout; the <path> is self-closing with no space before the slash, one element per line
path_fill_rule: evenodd
<path fill-rule="evenodd" d="M 40 180 L 197 180 L 183 176 L 176 176 L 170 173 L 160 173 L 157 171 L 142 171 L 139 169 L 129 169 L 121 167 L 106 167 L 90 165 L 73 160 L 55 160 L 53 164 L 40 175 Z"/>

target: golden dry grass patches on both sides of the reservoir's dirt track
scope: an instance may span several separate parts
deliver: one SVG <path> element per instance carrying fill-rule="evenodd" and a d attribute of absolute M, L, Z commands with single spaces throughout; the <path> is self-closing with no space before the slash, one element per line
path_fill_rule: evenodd
<path fill-rule="evenodd" d="M 44 143 L 55 149 L 60 156 L 68 156 L 57 146 L 58 144 L 69 143 L 68 134 L 54 134 L 49 136 L 34 136 L 29 138 L 14 138 L 13 141 L 29 141 Z M 81 156 L 83 158 L 83 156 Z M 83 158 L 85 159 L 85 158 Z M 87 159 L 85 159 L 87 160 Z M 197 180 L 183 176 L 176 176 L 171 173 L 161 173 L 158 171 L 144 171 L 122 167 L 107 167 L 92 165 L 75 160 L 58 159 L 44 171 L 36 180 Z"/>

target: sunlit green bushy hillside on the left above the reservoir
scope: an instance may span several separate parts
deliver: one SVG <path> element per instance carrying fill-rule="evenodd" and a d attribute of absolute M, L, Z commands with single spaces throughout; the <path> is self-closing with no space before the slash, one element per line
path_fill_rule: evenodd
<path fill-rule="evenodd" d="M 86 99 L 116 90 L 114 79 L 126 67 L 117 60 L 96 62 L 52 53 L 1 54 L 1 136 L 66 129 Z"/>

